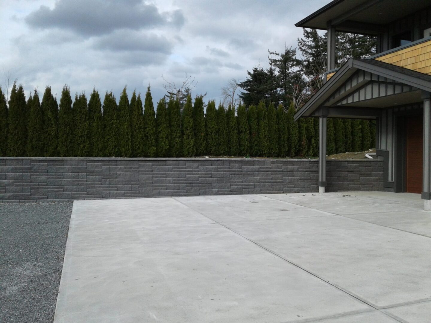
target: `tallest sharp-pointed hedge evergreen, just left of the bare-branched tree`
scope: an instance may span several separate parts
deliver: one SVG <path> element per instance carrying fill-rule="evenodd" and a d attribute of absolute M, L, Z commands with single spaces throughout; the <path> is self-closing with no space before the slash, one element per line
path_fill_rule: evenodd
<path fill-rule="evenodd" d="M 144 102 L 144 152 L 146 157 L 156 156 L 156 112 L 150 86 L 147 87 Z"/>

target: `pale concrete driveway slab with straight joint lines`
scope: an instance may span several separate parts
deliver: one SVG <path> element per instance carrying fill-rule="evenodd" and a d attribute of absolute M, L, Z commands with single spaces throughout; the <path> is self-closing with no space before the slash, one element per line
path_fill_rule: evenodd
<path fill-rule="evenodd" d="M 76 201 L 55 323 L 431 322 L 431 212 L 347 192 Z"/>

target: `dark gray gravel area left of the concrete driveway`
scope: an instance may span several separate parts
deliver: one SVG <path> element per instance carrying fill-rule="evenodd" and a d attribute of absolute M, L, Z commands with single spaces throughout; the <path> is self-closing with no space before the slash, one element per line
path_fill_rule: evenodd
<path fill-rule="evenodd" d="M 0 322 L 52 322 L 72 203 L 0 203 Z"/>

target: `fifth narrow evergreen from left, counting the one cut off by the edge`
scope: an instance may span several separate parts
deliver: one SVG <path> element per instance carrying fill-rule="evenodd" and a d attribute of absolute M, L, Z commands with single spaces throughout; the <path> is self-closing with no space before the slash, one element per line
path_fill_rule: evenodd
<path fill-rule="evenodd" d="M 72 157 L 73 115 L 70 88 L 65 85 L 61 92 L 58 112 L 58 152 L 60 157 Z"/>

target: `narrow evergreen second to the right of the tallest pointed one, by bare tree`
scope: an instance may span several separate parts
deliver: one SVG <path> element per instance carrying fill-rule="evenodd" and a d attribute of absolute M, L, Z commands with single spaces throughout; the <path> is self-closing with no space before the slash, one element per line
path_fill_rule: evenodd
<path fill-rule="evenodd" d="M 168 103 L 169 117 L 169 155 L 179 157 L 181 155 L 181 106 L 180 101 L 173 96 L 169 98 Z"/>

